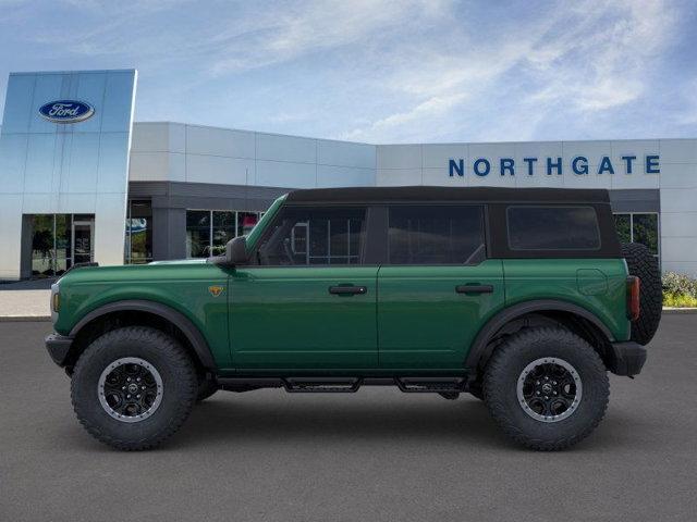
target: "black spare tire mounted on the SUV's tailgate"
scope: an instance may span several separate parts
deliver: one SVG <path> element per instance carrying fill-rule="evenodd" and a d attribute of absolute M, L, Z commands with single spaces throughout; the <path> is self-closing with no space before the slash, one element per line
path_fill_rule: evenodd
<path fill-rule="evenodd" d="M 663 309 L 663 288 L 658 259 L 638 243 L 623 243 L 622 257 L 627 262 L 629 275 L 636 275 L 639 286 L 639 319 L 632 323 L 632 340 L 647 345 L 658 330 Z"/>

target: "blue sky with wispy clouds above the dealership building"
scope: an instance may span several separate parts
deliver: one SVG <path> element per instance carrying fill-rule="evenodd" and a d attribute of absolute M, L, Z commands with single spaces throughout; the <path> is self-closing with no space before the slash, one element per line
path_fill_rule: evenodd
<path fill-rule="evenodd" d="M 10 72 L 138 70 L 136 121 L 371 144 L 697 137 L 697 2 L 0 0 Z"/>

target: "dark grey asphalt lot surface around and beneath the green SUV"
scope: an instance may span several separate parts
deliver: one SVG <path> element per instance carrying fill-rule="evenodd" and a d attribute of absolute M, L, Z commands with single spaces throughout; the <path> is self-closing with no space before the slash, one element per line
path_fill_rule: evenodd
<path fill-rule="evenodd" d="M 697 315 L 665 315 L 645 372 L 612 376 L 600 427 L 558 453 L 468 396 L 391 388 L 219 393 L 166 447 L 119 452 L 76 422 L 50 328 L 0 323 L 1 520 L 695 520 Z"/>

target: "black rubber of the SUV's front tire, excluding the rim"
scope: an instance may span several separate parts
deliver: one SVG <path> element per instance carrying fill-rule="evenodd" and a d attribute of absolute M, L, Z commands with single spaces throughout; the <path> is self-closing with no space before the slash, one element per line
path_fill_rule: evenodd
<path fill-rule="evenodd" d="M 162 380 L 159 407 L 138 422 L 112 418 L 98 397 L 101 373 L 121 358 L 147 361 Z M 143 450 L 159 446 L 181 427 L 194 406 L 197 384 L 194 364 L 174 338 L 151 327 L 129 326 L 103 334 L 80 356 L 71 397 L 77 419 L 95 438 L 117 449 Z"/>

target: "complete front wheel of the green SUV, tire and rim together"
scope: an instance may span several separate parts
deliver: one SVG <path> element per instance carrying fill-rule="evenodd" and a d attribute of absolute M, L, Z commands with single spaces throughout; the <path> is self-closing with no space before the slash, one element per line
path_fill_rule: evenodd
<path fill-rule="evenodd" d="M 194 365 L 179 343 L 150 327 L 108 332 L 81 355 L 71 395 L 77 419 L 118 449 L 160 445 L 188 417 L 197 393 Z"/>

